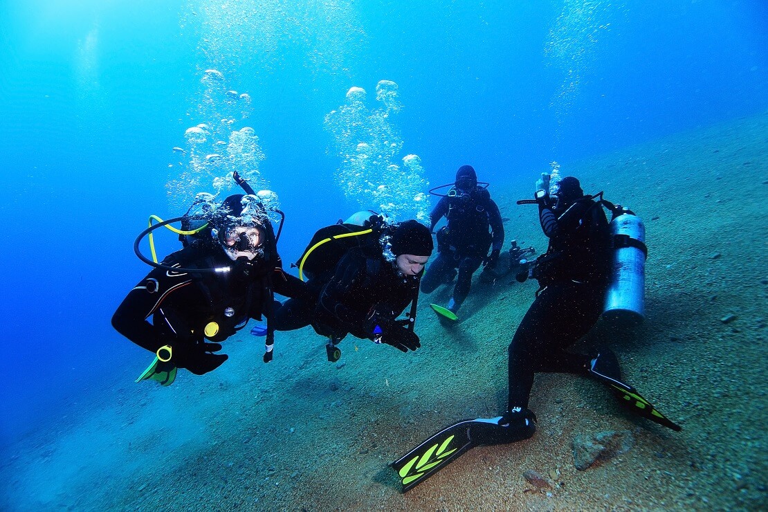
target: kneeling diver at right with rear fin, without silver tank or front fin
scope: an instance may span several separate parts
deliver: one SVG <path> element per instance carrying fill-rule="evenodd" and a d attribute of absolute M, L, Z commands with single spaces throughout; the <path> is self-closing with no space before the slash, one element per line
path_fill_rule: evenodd
<path fill-rule="evenodd" d="M 585 196 L 574 177 L 563 178 L 553 189 L 552 197 L 545 190 L 536 192 L 541 230 L 548 236 L 549 246 L 531 270 L 539 283 L 536 299 L 509 345 L 508 410 L 498 425 L 511 427 L 510 432 L 517 429 L 517 435 L 533 435 L 529 423 L 535 421 L 535 415 L 528 409 L 528 399 L 534 375 L 564 372 L 607 385 L 635 414 L 679 431 L 679 425 L 657 411 L 637 389 L 622 382 L 621 368 L 611 349 L 602 347 L 591 355 L 568 352 L 604 311 L 612 273 L 621 270 L 612 263 L 611 254 L 622 246 L 640 247 L 611 234 L 603 206 L 614 215 L 628 210 L 604 201 L 602 194 Z"/>

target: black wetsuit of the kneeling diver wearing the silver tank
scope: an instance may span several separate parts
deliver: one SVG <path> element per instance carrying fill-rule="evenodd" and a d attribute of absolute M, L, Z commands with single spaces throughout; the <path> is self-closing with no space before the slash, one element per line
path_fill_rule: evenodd
<path fill-rule="evenodd" d="M 565 349 L 598 321 L 607 287 L 609 233 L 600 204 L 584 197 L 559 217 L 540 206 L 539 219 L 549 247 L 534 269 L 541 292 L 509 345 L 509 410 L 528 408 L 536 372 L 586 372 L 590 358 Z"/>

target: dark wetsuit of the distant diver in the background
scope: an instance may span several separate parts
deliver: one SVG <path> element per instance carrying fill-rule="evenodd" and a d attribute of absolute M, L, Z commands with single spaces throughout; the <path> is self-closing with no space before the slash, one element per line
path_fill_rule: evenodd
<path fill-rule="evenodd" d="M 504 246 L 504 225 L 498 206 L 483 187 L 476 187 L 470 196 L 441 197 L 432 210 L 431 230 L 445 216 L 448 226 L 437 236 L 438 256 L 422 279 L 422 292 L 431 293 L 456 276 L 453 299 L 462 305 L 472 286 L 472 274 L 488 256 L 488 249 L 501 251 Z M 489 233 L 488 230 L 491 230 Z"/>

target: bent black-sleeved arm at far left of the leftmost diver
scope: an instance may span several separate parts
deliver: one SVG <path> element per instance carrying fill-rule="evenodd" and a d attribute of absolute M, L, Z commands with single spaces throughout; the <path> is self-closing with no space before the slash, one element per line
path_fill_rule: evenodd
<path fill-rule="evenodd" d="M 167 263 L 164 261 L 164 264 Z M 157 352 L 170 340 L 147 319 L 171 294 L 179 293 L 193 282 L 188 274 L 168 274 L 165 269 L 153 269 L 128 293 L 112 315 L 112 326 L 116 331 L 150 352 Z"/>

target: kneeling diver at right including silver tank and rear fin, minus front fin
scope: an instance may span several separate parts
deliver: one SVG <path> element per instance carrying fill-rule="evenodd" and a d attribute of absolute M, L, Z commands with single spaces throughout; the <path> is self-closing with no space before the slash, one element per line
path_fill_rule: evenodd
<path fill-rule="evenodd" d="M 585 195 L 575 177 L 551 189 L 545 183 L 535 200 L 547 252 L 531 266 L 539 289 L 525 313 L 508 352 L 508 411 L 504 421 L 528 417 L 534 375 L 564 372 L 604 383 L 636 414 L 673 430 L 668 420 L 635 388 L 621 380 L 616 355 L 600 348 L 590 355 L 568 352 L 603 315 L 625 322 L 643 318 L 644 262 L 647 257 L 642 221 L 602 193 Z M 603 207 L 612 213 L 609 223 Z M 631 265 L 627 260 L 631 259 Z M 522 416 L 521 416 L 522 415 Z M 531 432 L 532 434 L 532 432 Z"/>

